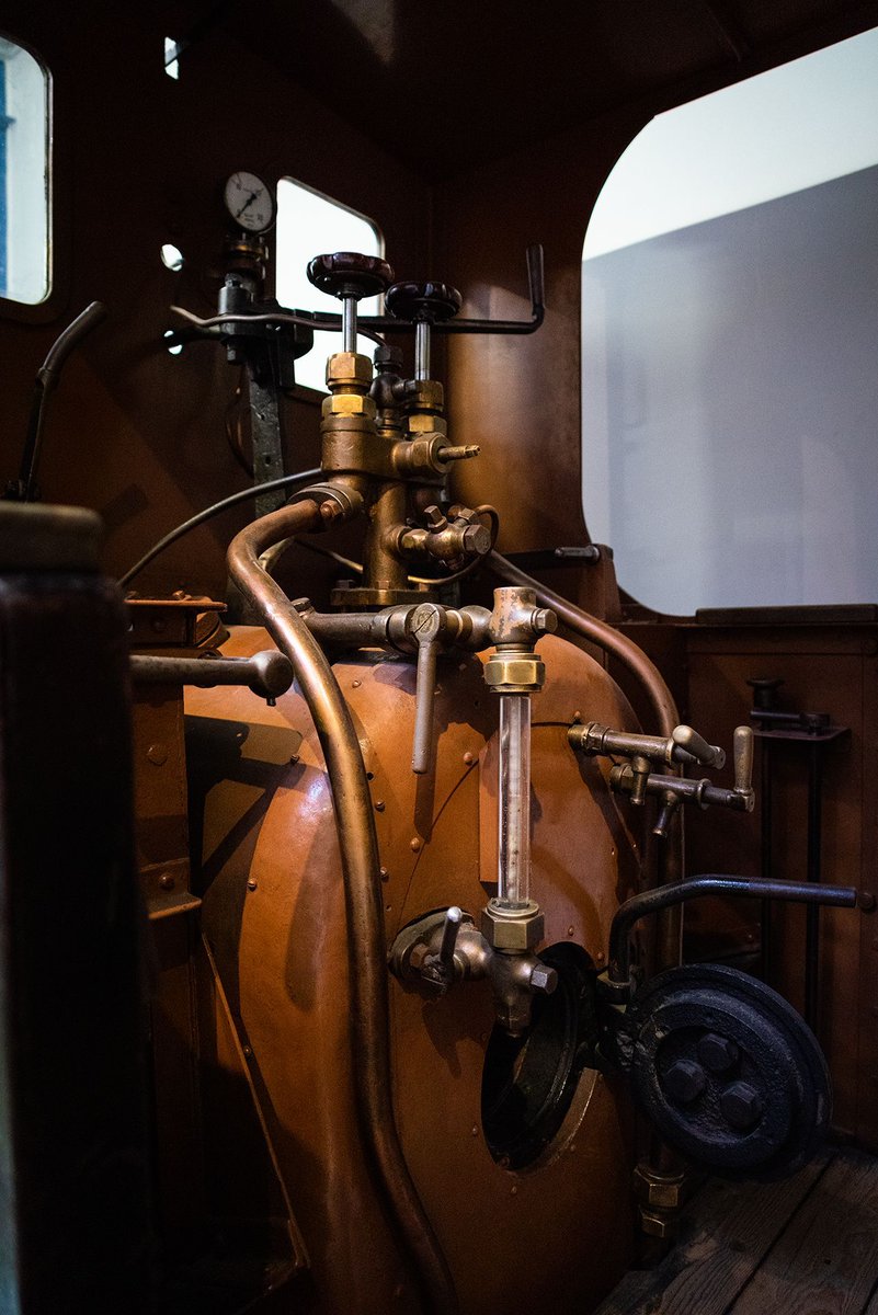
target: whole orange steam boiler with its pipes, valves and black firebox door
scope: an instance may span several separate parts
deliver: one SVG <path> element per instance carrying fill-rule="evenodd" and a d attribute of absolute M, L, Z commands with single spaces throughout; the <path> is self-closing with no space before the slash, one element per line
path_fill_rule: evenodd
<path fill-rule="evenodd" d="M 259 322 L 242 268 L 198 329 L 237 341 Z M 229 613 L 180 600 L 209 618 L 187 656 L 133 658 L 139 688 L 187 686 L 185 898 L 214 1006 L 197 1045 L 213 1028 L 213 1068 L 255 1114 L 292 1239 L 283 1310 L 590 1310 L 632 1257 L 635 1168 L 640 1220 L 661 1235 L 687 1164 L 778 1177 L 829 1118 L 821 1052 L 779 995 L 674 967 L 685 901 L 754 892 L 680 867 L 690 805 L 752 809 L 751 729 L 735 730 L 731 789 L 685 775 L 726 755 L 677 725 L 645 654 L 499 556 L 490 502 L 448 492 L 478 448 L 448 434 L 434 338 L 538 329 L 539 249 L 528 271 L 530 321 L 467 321 L 447 284 L 314 258 L 343 331 L 321 471 L 292 497 L 284 480 L 256 487 Z M 376 291 L 385 314 L 358 320 Z M 388 333 L 414 347 L 410 377 Z M 325 546 L 350 525 L 361 563 Z M 354 573 L 329 610 L 276 579 L 305 537 Z M 651 709 L 645 732 L 607 652 Z M 820 884 L 760 896 L 856 899 Z M 220 1162 L 234 1137 L 221 1128 Z M 252 1193 L 252 1166 L 229 1173 Z"/>

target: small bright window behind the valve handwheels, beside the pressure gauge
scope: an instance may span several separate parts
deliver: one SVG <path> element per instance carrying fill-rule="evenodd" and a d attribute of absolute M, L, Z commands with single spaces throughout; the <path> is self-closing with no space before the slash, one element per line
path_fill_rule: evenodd
<path fill-rule="evenodd" d="M 277 227 L 275 243 L 275 289 L 283 306 L 300 310 L 339 312 L 340 302 L 308 281 L 308 262 L 329 251 L 360 251 L 381 255 L 382 242 L 376 226 L 361 214 L 336 201 L 281 178 L 277 183 Z M 380 313 L 380 297 L 360 301 L 365 316 Z M 342 350 L 342 335 L 317 333 L 314 348 L 296 362 L 296 383 L 326 392 L 326 358 Z M 371 355 L 368 338 L 358 339 L 358 351 Z"/>

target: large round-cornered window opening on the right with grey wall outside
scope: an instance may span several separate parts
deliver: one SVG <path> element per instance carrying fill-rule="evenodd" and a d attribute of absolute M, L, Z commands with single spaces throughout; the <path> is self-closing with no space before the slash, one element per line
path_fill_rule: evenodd
<path fill-rule="evenodd" d="M 584 250 L 593 538 L 662 611 L 878 601 L 878 32 L 630 150 Z"/>

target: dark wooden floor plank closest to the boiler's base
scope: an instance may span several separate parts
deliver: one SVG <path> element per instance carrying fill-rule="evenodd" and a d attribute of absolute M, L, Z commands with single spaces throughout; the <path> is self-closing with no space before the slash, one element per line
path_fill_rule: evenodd
<path fill-rule="evenodd" d="M 626 1274 L 595 1315 L 726 1315 L 825 1166 L 821 1157 L 786 1182 L 707 1184 L 683 1211 L 670 1255 Z"/>

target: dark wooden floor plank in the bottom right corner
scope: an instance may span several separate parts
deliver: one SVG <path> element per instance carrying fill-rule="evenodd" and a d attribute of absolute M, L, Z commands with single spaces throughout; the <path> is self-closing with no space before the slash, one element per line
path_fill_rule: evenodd
<path fill-rule="evenodd" d="M 839 1157 L 729 1315 L 861 1315 L 878 1278 L 878 1161 Z"/>

